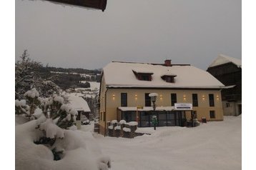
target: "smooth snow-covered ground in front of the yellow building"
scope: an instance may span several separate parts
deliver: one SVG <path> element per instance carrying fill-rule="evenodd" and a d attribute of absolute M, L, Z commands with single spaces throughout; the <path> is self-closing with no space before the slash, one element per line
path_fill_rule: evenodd
<path fill-rule="evenodd" d="M 91 125 L 92 127 L 92 125 Z M 91 131 L 82 126 L 82 131 Z M 242 116 L 225 116 L 195 128 L 140 128 L 152 135 L 134 139 L 94 134 L 116 169 L 242 169 Z"/>

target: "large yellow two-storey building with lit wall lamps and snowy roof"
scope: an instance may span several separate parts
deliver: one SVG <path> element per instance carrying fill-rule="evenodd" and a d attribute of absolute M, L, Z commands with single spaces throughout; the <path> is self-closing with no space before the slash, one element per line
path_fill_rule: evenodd
<path fill-rule="evenodd" d="M 220 89 L 225 86 L 207 71 L 189 64 L 142 64 L 112 62 L 102 70 L 99 91 L 99 133 L 106 135 L 107 121 L 138 121 L 152 126 L 156 114 L 158 126 L 181 126 L 183 119 L 222 121 Z M 149 94 L 157 93 L 156 111 Z M 174 104 L 193 104 L 189 111 L 174 109 Z"/>

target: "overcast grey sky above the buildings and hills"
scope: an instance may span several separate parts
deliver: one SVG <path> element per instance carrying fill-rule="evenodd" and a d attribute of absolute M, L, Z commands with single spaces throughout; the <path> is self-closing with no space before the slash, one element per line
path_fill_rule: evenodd
<path fill-rule="evenodd" d="M 64 68 L 111 61 L 192 64 L 242 56 L 240 0 L 108 0 L 101 10 L 16 0 L 16 54 Z"/>

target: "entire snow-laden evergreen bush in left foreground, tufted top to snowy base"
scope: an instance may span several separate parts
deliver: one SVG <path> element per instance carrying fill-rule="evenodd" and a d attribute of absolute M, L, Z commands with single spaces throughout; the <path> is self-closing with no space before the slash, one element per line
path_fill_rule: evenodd
<path fill-rule="evenodd" d="M 74 130 L 77 110 L 64 104 L 63 97 L 40 98 L 36 89 L 27 91 L 24 96 L 26 100 L 15 101 L 15 113 L 36 120 L 29 119 L 16 126 L 16 169 L 104 170 L 110 167 L 109 157 L 94 155 L 98 146 L 91 151 L 85 141 L 87 138 L 81 139 L 79 132 Z M 78 164 L 77 159 L 80 160 Z"/>

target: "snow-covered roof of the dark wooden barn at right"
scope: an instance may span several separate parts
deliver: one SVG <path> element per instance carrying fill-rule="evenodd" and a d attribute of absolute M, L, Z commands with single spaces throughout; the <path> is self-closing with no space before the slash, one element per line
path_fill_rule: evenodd
<path fill-rule="evenodd" d="M 237 65 L 237 67 L 242 68 L 242 60 L 241 59 L 236 59 L 236 58 L 233 58 L 230 56 L 225 56 L 223 54 L 220 54 L 219 56 L 217 56 L 217 59 L 215 59 L 215 61 L 213 61 L 209 67 L 219 66 L 221 64 L 226 64 L 226 63 L 230 63 L 230 62 Z"/>

